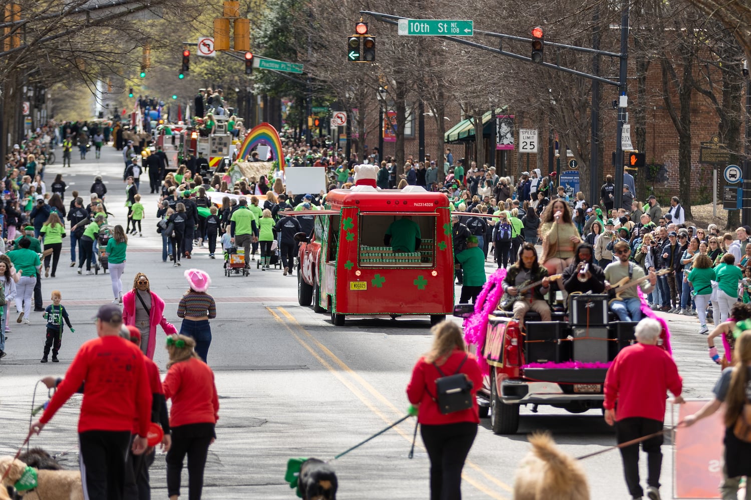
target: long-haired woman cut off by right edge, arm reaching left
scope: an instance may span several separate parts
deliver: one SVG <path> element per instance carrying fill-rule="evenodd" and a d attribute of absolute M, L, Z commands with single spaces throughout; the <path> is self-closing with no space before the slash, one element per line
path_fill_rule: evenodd
<path fill-rule="evenodd" d="M 751 477 L 751 321 L 739 322 L 734 332 L 735 341 L 733 367 L 722 370 L 722 375 L 714 386 L 714 398 L 693 415 L 688 415 L 683 424 L 692 426 L 702 418 L 716 412 L 725 403 L 725 445 L 723 453 L 722 481 L 719 491 L 722 499 L 736 499 L 743 476 Z M 710 355 L 711 349 L 710 349 Z M 715 351 L 716 355 L 716 351 Z M 746 486 L 746 499 L 749 490 Z"/>

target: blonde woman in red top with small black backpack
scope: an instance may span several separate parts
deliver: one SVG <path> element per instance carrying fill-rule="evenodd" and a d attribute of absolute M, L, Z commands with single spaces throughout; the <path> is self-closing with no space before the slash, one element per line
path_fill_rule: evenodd
<path fill-rule="evenodd" d="M 430 457 L 430 499 L 461 499 L 462 469 L 469 448 L 475 442 L 480 423 L 477 398 L 482 373 L 475 356 L 466 352 L 462 330 L 452 322 L 432 329 L 433 347 L 412 370 L 407 385 L 409 402 L 418 406 L 421 436 Z M 463 373 L 472 382 L 472 408 L 442 414 L 434 399 L 436 379 Z"/>

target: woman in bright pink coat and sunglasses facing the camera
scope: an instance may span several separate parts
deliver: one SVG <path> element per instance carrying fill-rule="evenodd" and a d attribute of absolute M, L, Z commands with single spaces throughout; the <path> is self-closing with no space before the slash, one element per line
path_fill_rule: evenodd
<path fill-rule="evenodd" d="M 149 289 L 146 274 L 137 273 L 133 280 L 133 289 L 122 296 L 122 322 L 134 325 L 141 332 L 140 348 L 150 359 L 154 358 L 156 345 L 156 325 L 161 325 L 167 335 L 176 334 L 177 330 L 164 318 L 164 301 Z"/>

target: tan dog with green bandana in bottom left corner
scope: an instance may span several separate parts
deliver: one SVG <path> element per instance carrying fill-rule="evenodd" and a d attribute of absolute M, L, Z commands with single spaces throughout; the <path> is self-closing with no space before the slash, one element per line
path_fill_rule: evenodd
<path fill-rule="evenodd" d="M 26 469 L 26 464 L 20 460 L 13 460 L 13 457 L 0 457 L 0 477 L 5 474 L 8 467 L 11 468 L 11 472 L 0 485 L 2 490 L 18 481 Z M 38 470 L 37 474 L 38 487 L 25 493 L 24 500 L 83 500 L 80 472 Z"/>

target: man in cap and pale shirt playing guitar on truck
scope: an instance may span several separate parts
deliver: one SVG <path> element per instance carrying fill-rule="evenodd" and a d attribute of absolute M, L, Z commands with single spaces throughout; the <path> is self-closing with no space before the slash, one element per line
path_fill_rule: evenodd
<path fill-rule="evenodd" d="M 617 261 L 608 264 L 605 268 L 605 281 L 607 283 L 618 283 L 623 278 L 628 277 L 629 282 L 643 282 L 644 269 L 633 262 L 629 262 L 631 248 L 626 241 L 618 241 L 613 247 Z M 649 283 L 642 283 L 641 291 L 645 294 L 652 291 L 657 283 L 657 275 L 650 271 L 647 275 Z M 615 285 L 613 285 L 615 286 Z M 635 287 L 624 288 L 619 292 L 622 300 L 611 302 L 611 310 L 617 314 L 620 321 L 639 321 L 641 320 L 641 301 Z"/>

